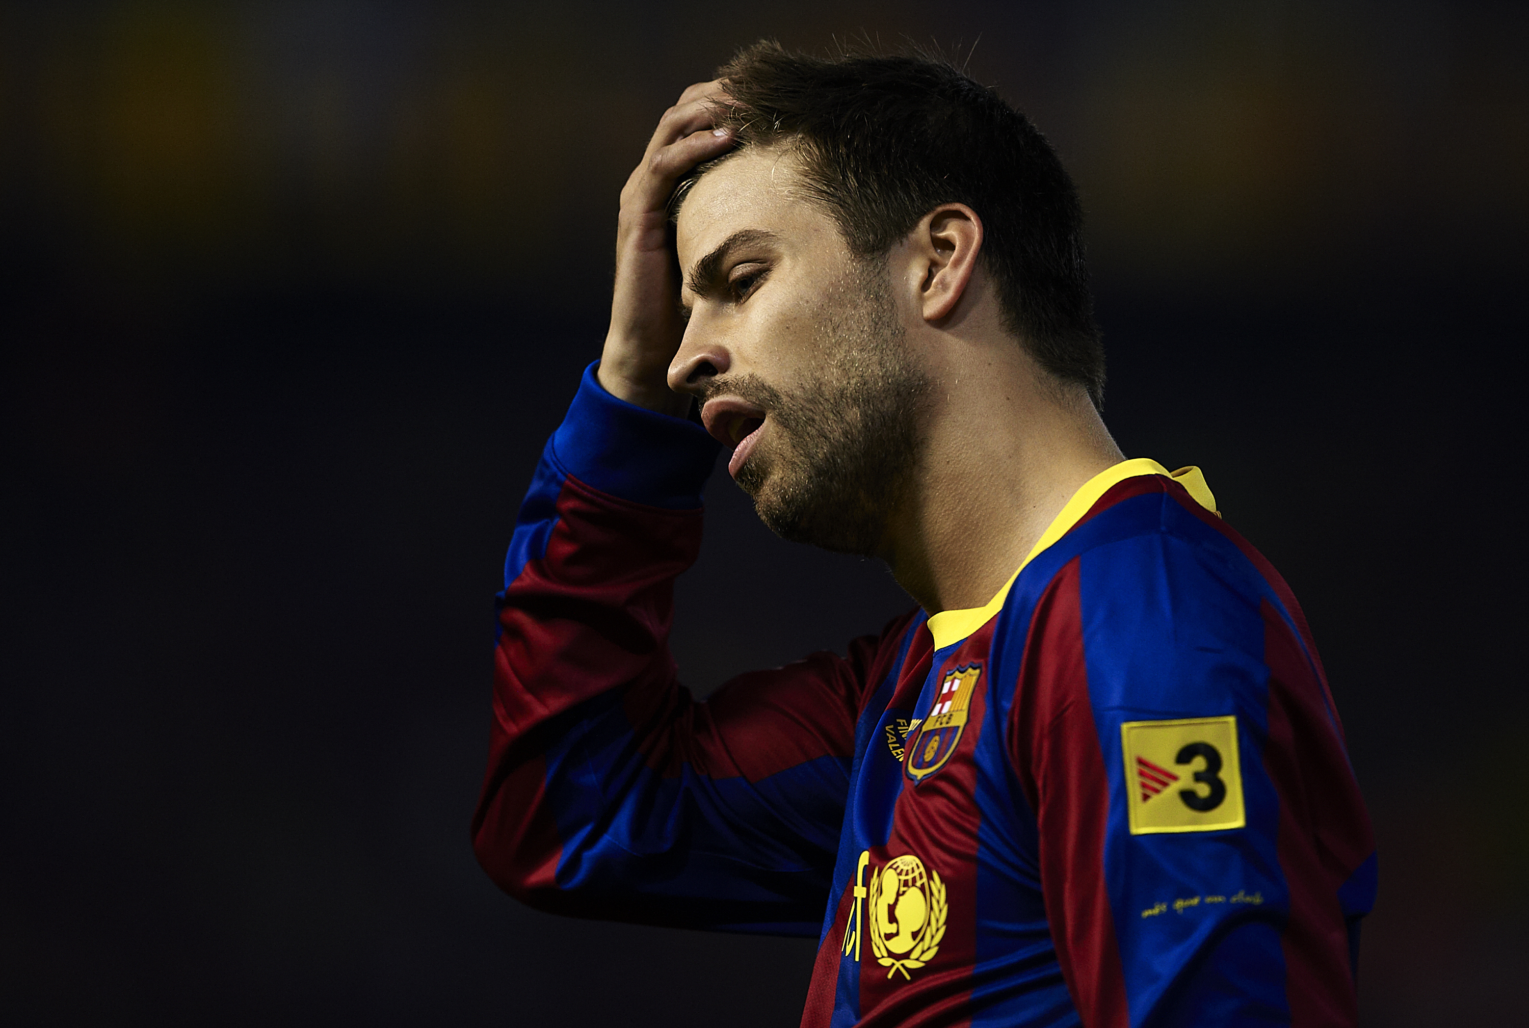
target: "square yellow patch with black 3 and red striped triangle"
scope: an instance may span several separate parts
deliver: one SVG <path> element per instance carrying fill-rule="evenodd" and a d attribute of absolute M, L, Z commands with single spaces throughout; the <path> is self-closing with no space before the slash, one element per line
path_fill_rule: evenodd
<path fill-rule="evenodd" d="M 1131 835 L 1214 832 L 1248 823 L 1235 716 L 1127 721 L 1121 745 Z"/>

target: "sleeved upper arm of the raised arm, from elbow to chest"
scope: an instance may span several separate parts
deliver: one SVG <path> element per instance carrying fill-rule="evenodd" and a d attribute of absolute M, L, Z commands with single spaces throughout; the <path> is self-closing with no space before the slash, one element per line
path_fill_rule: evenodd
<path fill-rule="evenodd" d="M 557 846 L 538 906 L 815 935 L 875 652 L 858 639 L 706 702 L 653 682 L 575 711 L 538 759 Z"/>

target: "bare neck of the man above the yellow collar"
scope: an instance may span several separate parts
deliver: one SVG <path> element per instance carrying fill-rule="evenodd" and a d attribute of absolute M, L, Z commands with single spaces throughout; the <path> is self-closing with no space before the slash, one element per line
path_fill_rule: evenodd
<path fill-rule="evenodd" d="M 1081 390 L 1018 347 L 959 347 L 936 378 L 922 462 L 882 557 L 930 613 L 980 607 L 1089 479 L 1122 460 Z"/>

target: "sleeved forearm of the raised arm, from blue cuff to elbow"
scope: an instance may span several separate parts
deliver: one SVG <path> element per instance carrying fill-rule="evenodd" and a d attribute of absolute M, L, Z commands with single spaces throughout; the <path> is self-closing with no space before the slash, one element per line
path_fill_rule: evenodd
<path fill-rule="evenodd" d="M 624 404 L 587 370 L 521 505 L 498 597 L 489 766 L 474 844 L 531 899 L 557 863 L 549 750 L 601 696 L 677 690 L 667 650 L 673 580 L 700 543 L 716 445 Z M 553 753 L 553 756 L 557 756 Z"/>

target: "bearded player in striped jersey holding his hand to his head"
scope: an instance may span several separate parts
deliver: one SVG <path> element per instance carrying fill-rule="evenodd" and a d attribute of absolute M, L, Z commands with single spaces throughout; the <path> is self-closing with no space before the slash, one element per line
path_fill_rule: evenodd
<path fill-rule="evenodd" d="M 1356 1022 L 1375 857 L 1316 650 L 1200 473 L 1105 431 L 1079 220 L 937 61 L 758 44 L 664 115 L 506 566 L 502 887 L 815 933 L 804 1025 Z M 667 636 L 717 444 L 919 609 L 696 704 Z"/>

